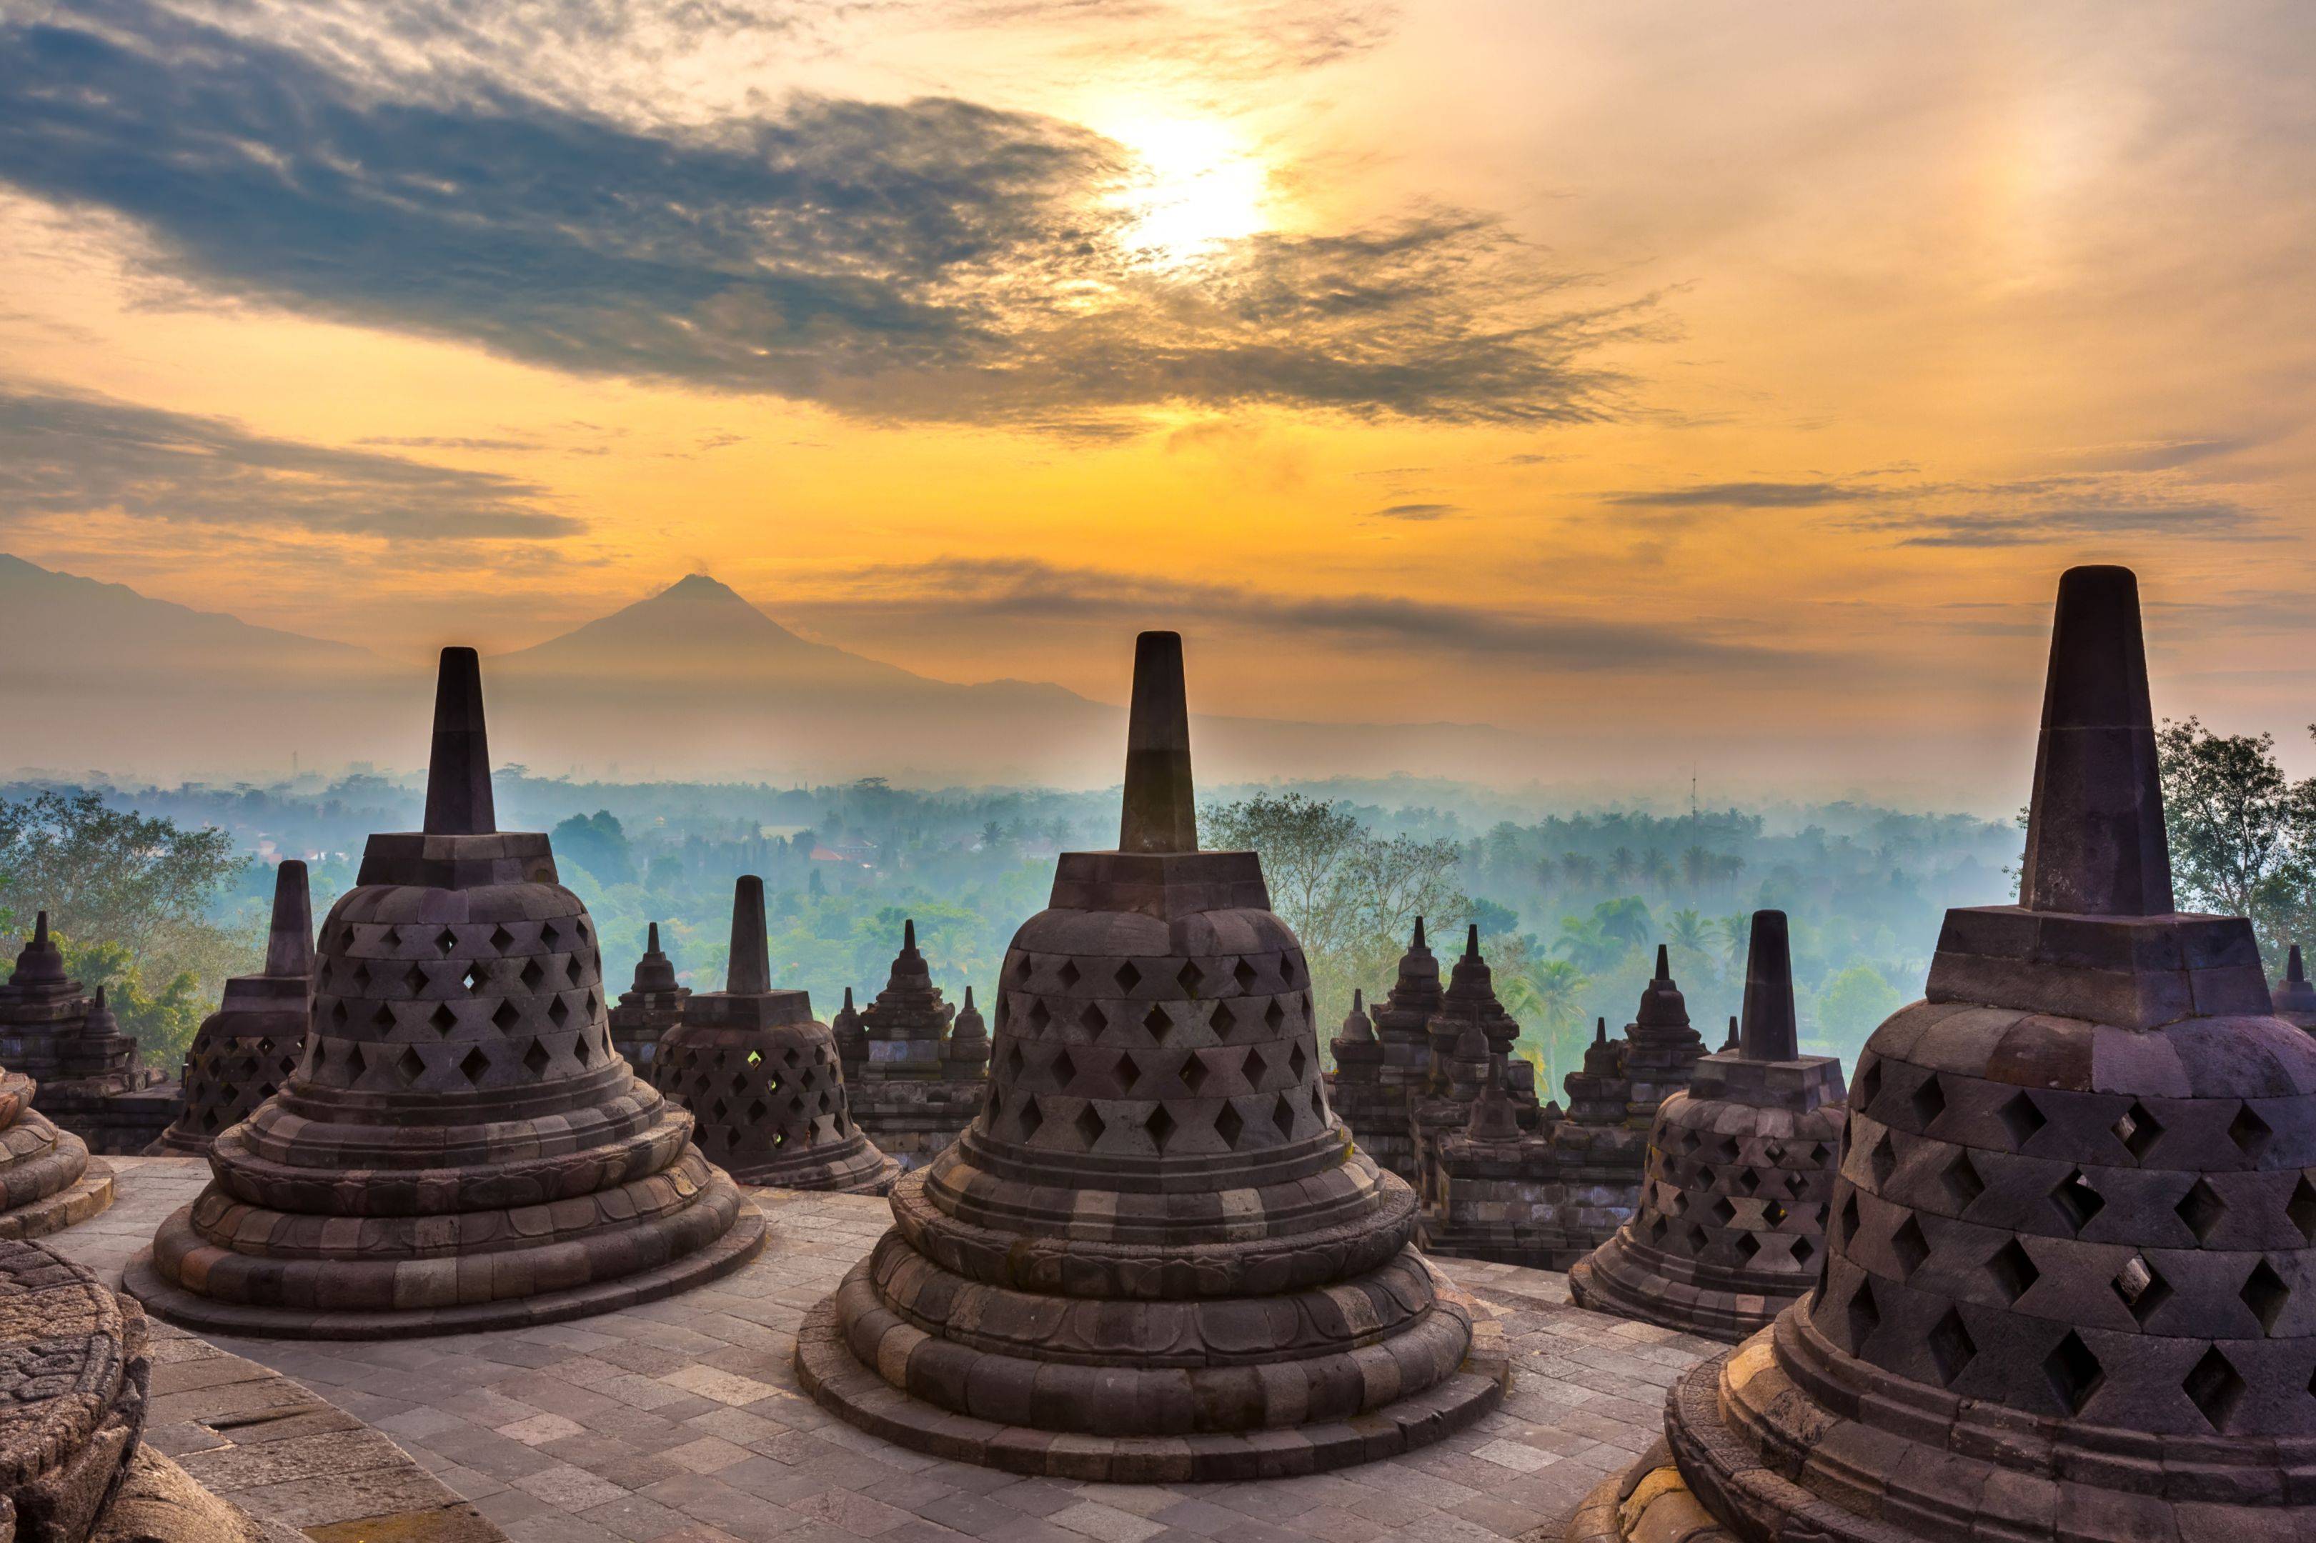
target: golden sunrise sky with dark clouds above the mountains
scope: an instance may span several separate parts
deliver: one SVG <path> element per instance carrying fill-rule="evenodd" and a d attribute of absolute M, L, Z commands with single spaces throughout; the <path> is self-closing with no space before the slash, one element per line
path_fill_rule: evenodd
<path fill-rule="evenodd" d="M 0 9 L 0 549 L 419 658 L 2017 781 L 2054 575 L 2316 762 L 2302 5 Z"/>

